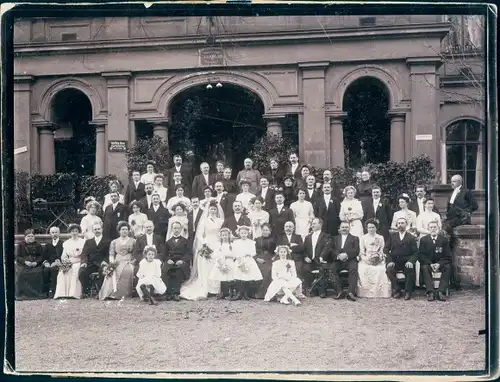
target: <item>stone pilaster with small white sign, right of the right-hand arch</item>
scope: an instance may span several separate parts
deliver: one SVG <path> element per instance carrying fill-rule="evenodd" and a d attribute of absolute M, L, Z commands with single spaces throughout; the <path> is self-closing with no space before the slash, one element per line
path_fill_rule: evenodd
<path fill-rule="evenodd" d="M 418 57 L 406 60 L 411 83 L 411 153 L 408 157 L 427 155 L 438 165 L 438 102 L 439 57 Z"/>

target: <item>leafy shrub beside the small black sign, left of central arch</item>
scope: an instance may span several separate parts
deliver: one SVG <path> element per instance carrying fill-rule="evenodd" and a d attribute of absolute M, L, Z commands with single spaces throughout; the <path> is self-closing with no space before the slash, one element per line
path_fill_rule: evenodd
<path fill-rule="evenodd" d="M 149 161 L 155 163 L 155 171 L 165 174 L 171 167 L 171 158 L 168 143 L 158 136 L 138 140 L 137 143 L 127 150 L 127 169 L 130 175 L 133 170 L 146 172 Z"/>

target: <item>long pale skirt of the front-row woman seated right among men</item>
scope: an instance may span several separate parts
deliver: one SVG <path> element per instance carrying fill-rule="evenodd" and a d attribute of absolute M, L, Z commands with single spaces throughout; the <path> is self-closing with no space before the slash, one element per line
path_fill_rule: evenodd
<path fill-rule="evenodd" d="M 385 263 L 358 263 L 358 296 L 365 298 L 391 297 L 391 282 L 385 273 Z"/>

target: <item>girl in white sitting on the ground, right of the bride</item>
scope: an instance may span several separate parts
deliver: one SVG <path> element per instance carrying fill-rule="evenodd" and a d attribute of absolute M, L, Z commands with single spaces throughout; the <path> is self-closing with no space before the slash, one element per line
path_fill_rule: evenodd
<path fill-rule="evenodd" d="M 279 245 L 276 248 L 279 259 L 273 263 L 272 283 L 267 289 L 264 301 L 271 301 L 277 294 L 283 293 L 284 296 L 280 303 L 289 305 L 292 300 L 294 305 L 300 305 L 299 299 L 295 294 L 302 291 L 302 281 L 297 277 L 295 262 L 290 260 L 291 249 L 285 245 Z"/>

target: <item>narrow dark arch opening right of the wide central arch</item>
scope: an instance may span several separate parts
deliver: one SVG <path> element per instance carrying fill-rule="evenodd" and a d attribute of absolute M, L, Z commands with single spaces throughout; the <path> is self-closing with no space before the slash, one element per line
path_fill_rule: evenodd
<path fill-rule="evenodd" d="M 346 165 L 360 168 L 390 159 L 389 92 L 374 77 L 363 77 L 346 89 L 343 99 Z M 403 144 L 403 143 L 402 143 Z"/>

